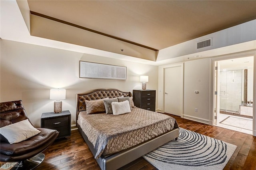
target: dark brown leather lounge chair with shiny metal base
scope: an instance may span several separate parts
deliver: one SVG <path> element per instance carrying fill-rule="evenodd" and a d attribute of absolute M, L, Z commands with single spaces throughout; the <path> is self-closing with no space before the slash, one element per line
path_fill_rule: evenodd
<path fill-rule="evenodd" d="M 26 119 L 29 120 L 22 100 L 0 103 L 0 127 Z M 15 144 L 10 144 L 0 135 L 0 161 L 21 162 L 21 168 L 26 170 L 38 166 L 44 160 L 44 154 L 41 152 L 54 142 L 59 132 L 47 128 L 37 129 L 41 131 L 39 134 Z"/>

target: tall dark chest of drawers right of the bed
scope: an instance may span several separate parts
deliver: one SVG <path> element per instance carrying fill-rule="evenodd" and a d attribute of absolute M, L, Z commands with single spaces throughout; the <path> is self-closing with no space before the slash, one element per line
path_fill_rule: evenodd
<path fill-rule="evenodd" d="M 156 111 L 156 90 L 133 90 L 132 96 L 136 107 Z"/>

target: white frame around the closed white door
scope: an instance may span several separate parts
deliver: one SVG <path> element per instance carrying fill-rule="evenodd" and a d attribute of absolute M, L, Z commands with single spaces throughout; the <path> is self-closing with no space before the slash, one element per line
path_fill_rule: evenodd
<path fill-rule="evenodd" d="M 184 62 L 177 64 L 168 64 L 164 66 L 158 67 L 158 108 L 156 111 L 164 113 L 164 103 L 165 103 L 165 95 L 164 95 L 164 78 L 165 78 L 165 69 L 172 67 L 181 67 L 182 71 L 182 113 L 180 115 L 181 118 L 184 118 Z"/>

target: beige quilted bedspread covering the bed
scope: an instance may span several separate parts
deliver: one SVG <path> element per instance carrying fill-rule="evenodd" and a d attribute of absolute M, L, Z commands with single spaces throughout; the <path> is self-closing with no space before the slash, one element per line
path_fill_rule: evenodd
<path fill-rule="evenodd" d="M 101 154 L 119 152 L 178 128 L 174 118 L 141 108 L 121 115 L 83 111 L 78 116 L 78 124 L 97 150 L 96 159 Z"/>

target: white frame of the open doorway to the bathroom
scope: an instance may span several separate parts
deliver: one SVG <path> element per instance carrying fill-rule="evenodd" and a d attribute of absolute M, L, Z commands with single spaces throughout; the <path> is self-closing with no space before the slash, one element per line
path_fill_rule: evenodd
<path fill-rule="evenodd" d="M 256 101 L 256 88 L 255 88 L 255 84 L 256 84 L 256 74 L 255 74 L 255 70 L 256 70 L 256 50 L 249 50 L 246 52 L 238 52 L 238 53 L 233 53 L 233 54 L 227 54 L 227 55 L 222 55 L 222 56 L 216 56 L 211 58 L 210 60 L 210 120 L 209 120 L 209 124 L 210 125 L 214 125 L 214 109 L 215 109 L 215 105 L 214 105 L 214 86 L 215 86 L 215 62 L 216 61 L 220 61 L 220 60 L 228 60 L 228 59 L 232 59 L 232 58 L 242 58 L 242 57 L 248 57 L 248 56 L 254 56 L 254 77 L 253 77 L 253 84 L 254 84 L 254 88 L 253 88 L 253 101 Z M 253 136 L 256 136 L 256 104 L 254 102 L 253 104 L 253 127 L 252 127 L 252 134 Z"/>

